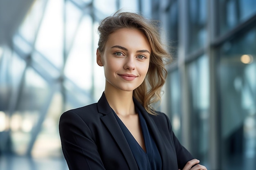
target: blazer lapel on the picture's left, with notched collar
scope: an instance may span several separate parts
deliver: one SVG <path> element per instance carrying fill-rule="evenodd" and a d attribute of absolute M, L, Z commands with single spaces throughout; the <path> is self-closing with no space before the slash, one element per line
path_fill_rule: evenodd
<path fill-rule="evenodd" d="M 126 161 L 130 167 L 130 170 L 138 170 L 137 163 L 132 155 L 132 151 L 130 150 L 130 146 L 122 132 L 117 119 L 115 118 L 114 113 L 112 112 L 111 107 L 108 104 L 108 101 L 103 93 L 99 102 L 97 104 L 99 113 L 104 114 L 101 117 L 101 120 L 106 125 L 110 133 L 112 134 L 113 138 L 117 142 L 117 145 L 121 149 L 126 158 Z"/>

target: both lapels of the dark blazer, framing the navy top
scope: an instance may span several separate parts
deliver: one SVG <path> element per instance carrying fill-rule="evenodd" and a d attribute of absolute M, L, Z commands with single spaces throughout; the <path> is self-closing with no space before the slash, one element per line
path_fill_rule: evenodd
<path fill-rule="evenodd" d="M 145 108 L 137 101 L 137 99 L 133 98 L 133 102 L 135 106 L 140 110 L 144 119 L 146 120 L 148 129 L 150 130 L 151 135 L 155 139 L 157 148 L 159 149 L 159 153 L 162 158 L 162 169 L 165 170 L 165 169 L 171 168 L 171 165 L 169 165 L 168 163 L 169 162 L 168 155 L 166 153 L 165 145 L 160 135 L 161 133 L 159 132 L 157 125 L 155 124 L 155 121 L 152 118 L 153 115 L 151 116 L 145 110 Z M 122 150 L 124 156 L 126 157 L 128 165 L 130 166 L 130 170 L 138 170 L 137 163 L 132 155 L 132 151 L 130 150 L 129 144 L 126 141 L 126 138 L 117 122 L 117 119 L 115 118 L 114 113 L 112 112 L 112 108 L 108 104 L 108 101 L 105 97 L 104 92 L 101 98 L 99 99 L 97 107 L 98 107 L 99 113 L 104 115 L 103 117 L 101 117 L 101 120 L 107 126 L 110 133 L 116 140 L 119 148 Z"/>

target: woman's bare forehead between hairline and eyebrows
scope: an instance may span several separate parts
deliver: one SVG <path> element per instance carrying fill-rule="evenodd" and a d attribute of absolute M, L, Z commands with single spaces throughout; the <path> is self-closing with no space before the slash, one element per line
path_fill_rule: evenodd
<path fill-rule="evenodd" d="M 124 46 L 126 48 L 130 47 L 132 49 L 147 49 L 148 51 L 151 51 L 146 35 L 135 28 L 122 28 L 111 33 L 105 47 L 110 48 L 115 45 Z"/>

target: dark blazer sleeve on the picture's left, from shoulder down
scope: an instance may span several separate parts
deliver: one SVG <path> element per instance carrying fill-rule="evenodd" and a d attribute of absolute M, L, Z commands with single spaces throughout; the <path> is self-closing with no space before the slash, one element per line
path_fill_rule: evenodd
<path fill-rule="evenodd" d="M 88 125 L 73 111 L 61 115 L 59 132 L 70 170 L 105 170 Z"/>

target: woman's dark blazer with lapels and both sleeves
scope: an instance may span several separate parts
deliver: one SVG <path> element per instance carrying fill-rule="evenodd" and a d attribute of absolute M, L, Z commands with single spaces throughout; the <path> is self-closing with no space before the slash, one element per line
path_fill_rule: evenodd
<path fill-rule="evenodd" d="M 162 170 L 183 169 L 191 154 L 173 134 L 164 113 L 150 115 L 134 99 L 162 158 Z M 70 170 L 138 170 L 124 134 L 103 93 L 98 103 L 69 110 L 59 123 L 64 157 Z"/>

